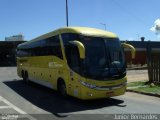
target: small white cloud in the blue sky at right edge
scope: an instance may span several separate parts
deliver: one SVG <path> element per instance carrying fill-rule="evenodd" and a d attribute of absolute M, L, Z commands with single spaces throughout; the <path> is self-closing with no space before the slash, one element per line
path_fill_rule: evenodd
<path fill-rule="evenodd" d="M 160 35 L 160 19 L 157 19 L 155 22 L 154 22 L 154 26 L 150 28 L 150 30 L 152 32 L 154 32 L 156 35 Z"/>

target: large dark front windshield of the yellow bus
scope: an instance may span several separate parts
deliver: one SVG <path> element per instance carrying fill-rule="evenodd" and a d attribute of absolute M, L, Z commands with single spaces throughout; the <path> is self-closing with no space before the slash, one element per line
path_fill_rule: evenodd
<path fill-rule="evenodd" d="M 64 45 L 67 45 L 69 41 L 79 40 L 85 46 L 86 58 L 83 64 L 83 71 L 88 78 L 106 80 L 125 76 L 125 59 L 118 38 L 91 37 L 76 34 L 66 34 L 62 38 Z"/>

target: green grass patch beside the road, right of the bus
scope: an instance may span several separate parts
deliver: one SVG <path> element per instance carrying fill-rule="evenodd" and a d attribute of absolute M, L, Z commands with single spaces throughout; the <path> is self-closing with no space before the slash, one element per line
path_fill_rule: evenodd
<path fill-rule="evenodd" d="M 160 95 L 160 85 L 148 84 L 147 81 L 131 82 L 127 84 L 127 89 L 132 91 L 153 93 Z"/>

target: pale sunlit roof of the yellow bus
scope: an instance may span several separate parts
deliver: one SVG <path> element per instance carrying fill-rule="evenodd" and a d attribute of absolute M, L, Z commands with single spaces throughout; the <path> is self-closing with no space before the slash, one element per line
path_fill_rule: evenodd
<path fill-rule="evenodd" d="M 82 35 L 86 35 L 86 36 L 107 37 L 107 38 L 117 38 L 118 37 L 115 33 L 100 30 L 100 29 L 95 29 L 95 28 L 64 27 L 64 28 L 60 28 L 60 29 L 54 30 L 52 32 L 46 33 L 42 36 L 39 36 L 39 37 L 32 39 L 30 41 L 27 41 L 25 43 L 22 43 L 22 44 L 18 45 L 18 47 L 23 46 L 23 45 L 28 45 L 32 42 L 42 40 L 47 37 L 55 36 L 55 35 L 62 34 L 62 33 L 77 33 L 77 34 L 82 34 Z"/>

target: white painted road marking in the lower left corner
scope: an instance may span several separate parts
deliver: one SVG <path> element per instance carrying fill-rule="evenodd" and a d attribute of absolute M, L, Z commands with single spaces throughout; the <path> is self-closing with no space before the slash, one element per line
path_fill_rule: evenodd
<path fill-rule="evenodd" d="M 24 112 L 23 110 L 21 110 L 20 108 L 16 107 L 15 105 L 13 105 L 12 103 L 10 103 L 8 100 L 6 100 L 5 98 L 3 98 L 2 96 L 0 96 L 0 101 L 3 101 L 4 103 L 6 103 L 8 106 L 0 106 L 2 107 L 1 109 L 5 109 L 5 107 L 8 108 L 13 108 L 14 110 L 16 110 L 18 113 L 24 115 L 24 117 L 29 118 L 30 120 L 37 120 L 34 117 L 32 117 L 31 115 L 27 115 L 26 112 Z M 3 108 L 4 107 L 4 108 Z M 20 115 L 20 116 L 22 116 Z M 23 117 L 23 116 L 22 116 Z"/>

